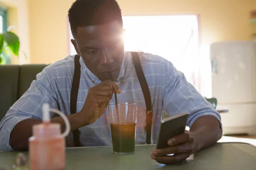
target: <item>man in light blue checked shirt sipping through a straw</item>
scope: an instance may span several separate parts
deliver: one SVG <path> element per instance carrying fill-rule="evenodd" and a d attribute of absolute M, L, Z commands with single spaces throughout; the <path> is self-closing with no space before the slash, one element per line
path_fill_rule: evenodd
<path fill-rule="evenodd" d="M 42 119 L 42 104 L 47 102 L 67 114 L 71 130 L 79 128 L 82 146 L 111 145 L 106 108 L 117 93 L 119 102 L 137 102 L 136 144 L 145 144 L 145 100 L 131 52 L 124 52 L 121 10 L 115 0 L 76 0 L 69 10 L 69 21 L 81 78 L 77 113 L 70 114 L 70 89 L 74 75 L 74 56 L 46 67 L 28 91 L 10 108 L 0 123 L 0 149 L 27 150 L 32 125 Z M 208 147 L 222 136 L 218 112 L 189 84 L 171 62 L 152 54 L 139 53 L 152 100 L 152 138 L 157 142 L 161 112 L 170 115 L 188 111 L 189 131 L 170 139 L 170 147 L 153 150 L 151 158 L 159 163 L 174 164 L 192 153 Z M 110 81 L 110 75 L 114 82 Z M 53 115 L 51 115 L 53 116 Z M 51 122 L 61 124 L 60 117 Z M 67 146 L 73 146 L 72 133 Z M 174 156 L 167 156 L 174 153 Z"/>

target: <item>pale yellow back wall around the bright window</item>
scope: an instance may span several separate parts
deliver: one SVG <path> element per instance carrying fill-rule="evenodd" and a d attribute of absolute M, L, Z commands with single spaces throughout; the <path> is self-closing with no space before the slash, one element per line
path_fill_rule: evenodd
<path fill-rule="evenodd" d="M 32 63 L 68 54 L 67 11 L 74 0 L 29 0 Z M 117 0 L 123 15 L 200 14 L 201 44 L 250 40 L 250 10 L 256 0 Z"/>

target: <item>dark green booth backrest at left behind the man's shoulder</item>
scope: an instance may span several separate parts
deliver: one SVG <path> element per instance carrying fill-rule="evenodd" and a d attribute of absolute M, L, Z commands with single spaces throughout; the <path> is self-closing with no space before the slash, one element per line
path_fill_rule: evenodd
<path fill-rule="evenodd" d="M 0 120 L 47 65 L 0 65 Z"/>

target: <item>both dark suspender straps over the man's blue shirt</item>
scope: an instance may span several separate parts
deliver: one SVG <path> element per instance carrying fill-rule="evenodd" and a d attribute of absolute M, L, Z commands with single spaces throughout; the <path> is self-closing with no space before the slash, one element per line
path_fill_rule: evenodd
<path fill-rule="evenodd" d="M 146 142 L 147 144 L 151 144 L 151 122 L 152 122 L 152 105 L 151 105 L 151 95 L 148 88 L 148 83 L 143 74 L 143 70 L 140 64 L 140 57 L 137 52 L 131 52 L 132 59 L 134 62 L 134 68 L 137 74 L 137 77 L 140 82 L 141 89 L 143 91 L 143 96 L 146 103 Z M 79 91 L 79 82 L 81 76 L 81 65 L 79 62 L 80 56 L 75 56 L 75 72 L 72 82 L 71 94 L 70 94 L 70 113 L 76 113 L 76 103 L 77 96 Z M 79 130 L 76 129 L 73 131 L 73 139 L 75 147 L 79 147 Z"/>

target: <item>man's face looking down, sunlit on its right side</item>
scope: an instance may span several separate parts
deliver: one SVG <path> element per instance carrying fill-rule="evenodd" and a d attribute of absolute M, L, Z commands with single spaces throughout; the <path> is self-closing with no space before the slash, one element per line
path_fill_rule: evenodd
<path fill-rule="evenodd" d="M 116 80 L 119 76 L 124 57 L 122 31 L 116 20 L 100 26 L 78 27 L 75 40 L 71 40 L 87 68 L 101 81 L 111 76 Z"/>

